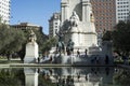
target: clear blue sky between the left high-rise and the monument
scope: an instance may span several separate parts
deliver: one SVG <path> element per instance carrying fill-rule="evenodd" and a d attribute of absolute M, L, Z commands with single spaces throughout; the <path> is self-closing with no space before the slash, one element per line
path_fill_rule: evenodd
<path fill-rule="evenodd" d="M 11 0 L 11 25 L 30 23 L 49 34 L 49 19 L 61 10 L 61 0 Z"/>

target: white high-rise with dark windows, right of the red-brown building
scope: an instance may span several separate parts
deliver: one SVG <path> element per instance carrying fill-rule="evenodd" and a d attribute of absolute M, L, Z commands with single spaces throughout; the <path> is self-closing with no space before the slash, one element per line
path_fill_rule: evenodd
<path fill-rule="evenodd" d="M 130 16 L 130 0 L 116 0 L 116 23 L 128 20 Z"/>

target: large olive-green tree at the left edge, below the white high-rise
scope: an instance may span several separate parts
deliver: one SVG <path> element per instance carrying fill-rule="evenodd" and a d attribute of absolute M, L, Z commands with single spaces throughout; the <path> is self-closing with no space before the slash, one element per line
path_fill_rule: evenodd
<path fill-rule="evenodd" d="M 0 55 L 5 55 L 9 59 L 13 53 L 22 48 L 25 40 L 23 31 L 0 24 Z"/>

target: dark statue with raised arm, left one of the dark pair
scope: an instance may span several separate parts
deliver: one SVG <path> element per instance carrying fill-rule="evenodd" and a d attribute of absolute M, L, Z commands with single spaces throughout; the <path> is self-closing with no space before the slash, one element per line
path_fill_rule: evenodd
<path fill-rule="evenodd" d="M 55 33 L 56 33 L 56 35 L 58 37 L 58 42 L 57 42 L 57 44 L 56 44 L 56 51 L 57 52 L 64 52 L 64 34 L 62 33 L 62 32 L 60 32 L 60 33 L 57 33 L 56 31 L 55 31 Z"/>

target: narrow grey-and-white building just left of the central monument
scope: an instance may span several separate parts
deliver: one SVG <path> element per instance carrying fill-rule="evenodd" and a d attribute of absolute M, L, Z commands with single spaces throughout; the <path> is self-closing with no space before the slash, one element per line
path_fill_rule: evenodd
<path fill-rule="evenodd" d="M 53 16 L 49 19 L 49 38 L 55 37 L 55 31 L 58 31 L 61 25 L 61 14 L 54 13 Z"/>

